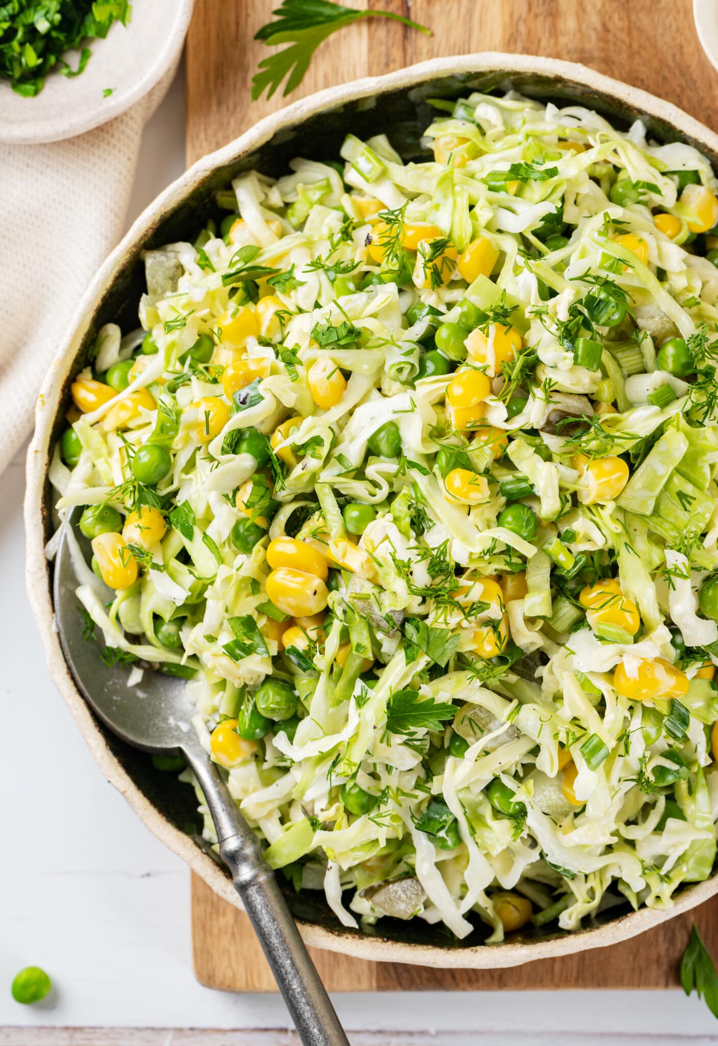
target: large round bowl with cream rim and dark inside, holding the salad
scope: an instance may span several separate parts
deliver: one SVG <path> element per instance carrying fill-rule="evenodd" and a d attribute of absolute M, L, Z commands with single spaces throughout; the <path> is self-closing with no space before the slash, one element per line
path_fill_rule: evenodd
<path fill-rule="evenodd" d="M 143 286 L 140 258 L 143 246 L 176 241 L 182 235 L 191 238 L 192 230 L 199 230 L 202 224 L 199 214 L 206 214 L 215 190 L 240 169 L 258 166 L 268 174 L 278 175 L 294 156 L 335 155 L 347 131 L 354 131 L 363 138 L 377 130 L 388 131 L 400 147 L 402 138 L 415 137 L 418 128 L 426 126 L 430 113 L 424 104 L 426 97 L 458 96 L 472 89 L 509 85 L 536 97 L 561 99 L 563 104 L 570 99 L 594 107 L 624 122 L 641 117 L 655 137 L 690 141 L 718 166 L 718 136 L 697 120 L 644 91 L 566 62 L 494 53 L 436 59 L 387 76 L 322 91 L 267 117 L 236 141 L 206 156 L 158 197 L 113 251 L 79 303 L 70 333 L 59 348 L 40 394 L 37 429 L 27 460 L 27 586 L 52 678 L 110 781 L 155 835 L 213 890 L 237 907 L 240 905 L 229 878 L 181 828 L 182 819 L 186 819 L 193 803 L 190 790 L 184 786 L 172 790 L 173 780 L 168 782 L 167 775 L 164 779 L 160 779 L 161 774 L 153 777 L 146 755 L 122 746 L 100 727 L 77 692 L 63 660 L 53 629 L 51 568 L 43 548 L 49 535 L 52 502 L 46 479 L 48 457 L 66 425 L 69 382 L 84 366 L 85 354 L 98 326 L 115 318 L 123 304 L 132 313 Z M 198 218 L 193 220 L 195 212 Z M 180 794 L 182 788 L 184 794 Z M 398 927 L 381 920 L 374 936 L 345 930 L 335 920 L 332 924 L 319 903 L 312 906 L 307 894 L 300 899 L 303 907 L 298 915 L 305 939 L 319 948 L 373 960 L 486 969 L 518 965 L 624 940 L 694 907 L 717 891 L 718 878 L 714 874 L 707 882 L 680 891 L 672 909 L 644 908 L 619 917 L 604 916 L 601 925 L 579 933 L 517 936 L 495 948 L 471 942 L 471 938 L 468 945 L 451 946 L 419 920 Z"/>

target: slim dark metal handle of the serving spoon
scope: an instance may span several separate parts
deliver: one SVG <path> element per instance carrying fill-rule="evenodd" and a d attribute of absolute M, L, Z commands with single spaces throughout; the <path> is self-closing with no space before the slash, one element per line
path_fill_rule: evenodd
<path fill-rule="evenodd" d="M 234 888 L 252 920 L 304 1046 L 349 1046 L 259 840 L 204 751 L 186 751 L 204 792 Z"/>

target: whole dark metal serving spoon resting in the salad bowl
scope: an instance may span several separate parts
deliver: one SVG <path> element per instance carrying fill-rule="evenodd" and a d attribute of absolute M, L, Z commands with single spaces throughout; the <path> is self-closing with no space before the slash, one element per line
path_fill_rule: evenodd
<path fill-rule="evenodd" d="M 82 539 L 80 539 L 82 540 Z M 65 535 L 54 571 L 54 612 L 65 659 L 95 714 L 122 741 L 146 752 L 182 752 L 207 799 L 219 852 L 264 950 L 272 973 L 306 1046 L 349 1046 L 259 841 L 191 724 L 196 708 L 182 680 L 145 672 L 128 686 L 126 668 L 109 668 L 94 643 L 83 639 L 77 582 Z"/>

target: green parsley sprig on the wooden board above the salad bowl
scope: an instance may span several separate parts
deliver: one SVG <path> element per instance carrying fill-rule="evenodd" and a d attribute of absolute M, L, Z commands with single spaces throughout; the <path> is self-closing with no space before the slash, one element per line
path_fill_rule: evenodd
<path fill-rule="evenodd" d="M 389 10 L 353 10 L 344 4 L 330 0 L 283 0 L 281 6 L 272 12 L 276 22 L 262 25 L 255 40 L 261 40 L 268 47 L 275 44 L 289 44 L 277 54 L 271 54 L 259 63 L 259 71 L 252 77 L 252 100 L 256 100 L 267 90 L 271 98 L 286 76 L 284 94 L 289 94 L 304 77 L 311 56 L 327 37 L 337 29 L 343 29 L 361 18 L 391 18 L 395 22 L 409 25 L 412 29 L 431 33 L 424 25 L 412 22 L 401 15 Z"/>

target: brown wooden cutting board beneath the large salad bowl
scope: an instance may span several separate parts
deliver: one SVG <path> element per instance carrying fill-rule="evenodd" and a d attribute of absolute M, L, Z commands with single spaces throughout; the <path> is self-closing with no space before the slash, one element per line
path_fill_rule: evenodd
<path fill-rule="evenodd" d="M 702 0 L 711 2 L 711 0 Z M 388 19 L 343 29 L 315 55 L 288 100 L 441 55 L 492 50 L 582 62 L 675 103 L 718 129 L 718 74 L 696 37 L 692 0 L 344 0 L 415 19 L 432 37 Z M 231 141 L 285 104 L 250 101 L 250 82 L 268 49 L 252 39 L 275 0 L 196 0 L 187 38 L 187 163 Z M 693 917 L 718 954 L 718 899 Z M 314 952 L 330 991 L 547 987 L 665 988 L 678 984 L 692 916 L 623 945 L 501 971 L 432 970 L 363 962 Z M 247 916 L 192 877 L 198 979 L 233 992 L 276 991 Z"/>

